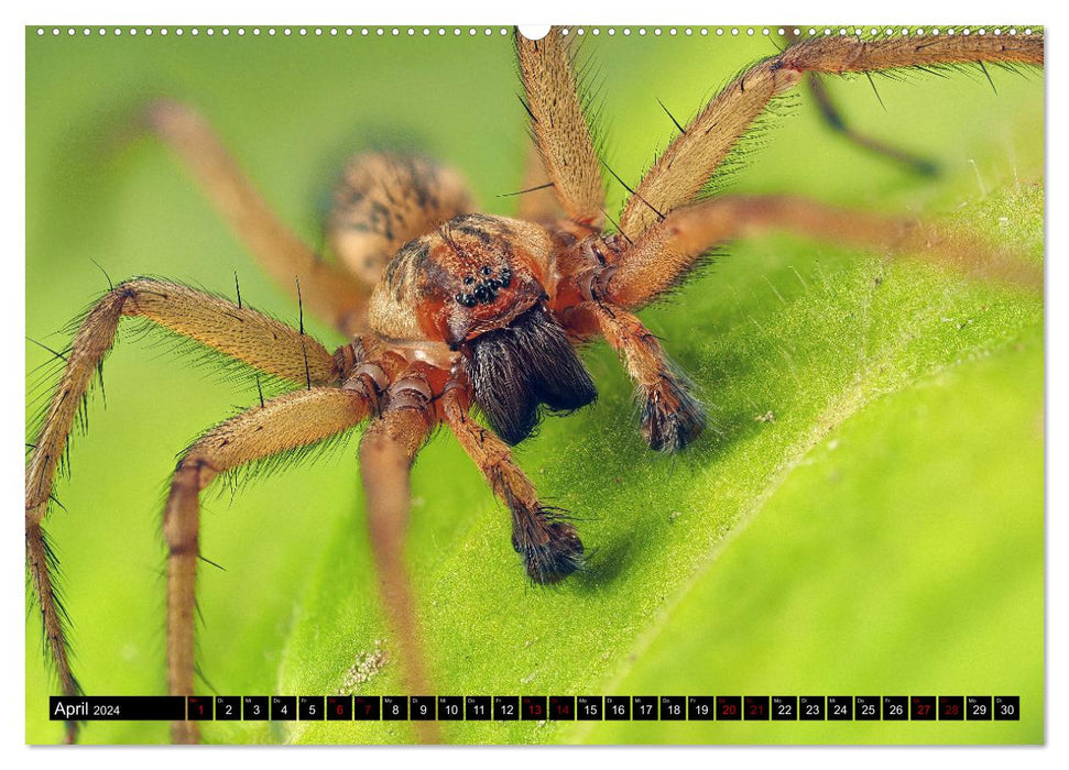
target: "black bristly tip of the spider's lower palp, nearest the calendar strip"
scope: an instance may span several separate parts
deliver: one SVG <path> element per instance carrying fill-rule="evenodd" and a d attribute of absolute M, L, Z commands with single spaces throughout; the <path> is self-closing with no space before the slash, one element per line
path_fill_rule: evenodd
<path fill-rule="evenodd" d="M 541 585 L 559 583 L 582 569 L 582 541 L 553 509 L 513 510 L 512 547 L 523 557 L 527 575 Z"/>

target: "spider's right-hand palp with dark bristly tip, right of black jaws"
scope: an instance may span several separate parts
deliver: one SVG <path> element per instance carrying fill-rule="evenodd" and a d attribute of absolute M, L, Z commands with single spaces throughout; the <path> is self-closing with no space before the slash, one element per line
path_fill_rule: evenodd
<path fill-rule="evenodd" d="M 581 332 L 600 333 L 623 356 L 641 405 L 642 438 L 651 449 L 677 452 L 701 435 L 705 407 L 637 317 L 606 300 L 587 301 L 570 311 L 568 323 Z"/>

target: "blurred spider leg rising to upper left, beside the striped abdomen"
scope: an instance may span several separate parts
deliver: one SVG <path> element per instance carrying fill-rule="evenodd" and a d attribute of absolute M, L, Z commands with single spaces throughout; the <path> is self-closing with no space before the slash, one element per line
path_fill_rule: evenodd
<path fill-rule="evenodd" d="M 341 267 L 324 262 L 279 220 L 199 113 L 162 100 L 149 106 L 146 122 L 185 163 L 271 277 L 288 292 L 296 277 L 309 309 L 347 337 L 364 329 L 364 287 Z"/>

